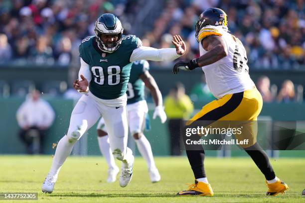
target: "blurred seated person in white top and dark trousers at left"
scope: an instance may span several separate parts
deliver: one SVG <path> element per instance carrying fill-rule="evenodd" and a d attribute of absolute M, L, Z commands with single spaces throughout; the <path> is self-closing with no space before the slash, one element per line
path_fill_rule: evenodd
<path fill-rule="evenodd" d="M 53 108 L 40 99 L 40 93 L 34 90 L 18 108 L 16 117 L 21 128 L 19 137 L 25 143 L 27 153 L 42 153 L 45 131 L 55 118 Z M 39 146 L 33 147 L 34 139 L 39 140 Z"/>

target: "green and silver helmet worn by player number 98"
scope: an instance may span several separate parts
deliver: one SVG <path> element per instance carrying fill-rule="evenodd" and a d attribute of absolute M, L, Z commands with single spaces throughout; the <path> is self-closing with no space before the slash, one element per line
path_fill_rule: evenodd
<path fill-rule="evenodd" d="M 122 23 L 117 16 L 111 13 L 104 13 L 95 22 L 94 32 L 98 47 L 104 52 L 114 52 L 122 43 Z M 118 39 L 111 43 L 103 42 L 102 35 L 116 35 Z"/>

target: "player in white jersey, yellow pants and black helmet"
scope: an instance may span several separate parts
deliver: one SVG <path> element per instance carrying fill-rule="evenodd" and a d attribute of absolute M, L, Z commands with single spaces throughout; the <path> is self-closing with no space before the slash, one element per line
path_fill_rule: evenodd
<path fill-rule="evenodd" d="M 203 106 L 187 125 L 192 126 L 196 121 L 210 121 L 211 124 L 218 120 L 247 121 L 243 125 L 244 133 L 235 136 L 237 139 L 249 139 L 248 144 L 239 146 L 264 174 L 268 186 L 267 195 L 276 196 L 285 193 L 288 186 L 276 177 L 266 153 L 256 142 L 256 120 L 263 100 L 249 76 L 246 50 L 241 41 L 228 32 L 227 23 L 227 14 L 219 8 L 209 8 L 201 13 L 195 27 L 200 57 L 179 61 L 174 65 L 174 74 L 179 70 L 201 67 L 209 89 L 217 98 Z M 194 136 L 193 139 L 199 139 L 198 135 Z M 186 146 L 186 154 L 195 176 L 195 184 L 177 195 L 213 196 L 204 171 L 205 154 L 202 145 L 193 150 Z"/>

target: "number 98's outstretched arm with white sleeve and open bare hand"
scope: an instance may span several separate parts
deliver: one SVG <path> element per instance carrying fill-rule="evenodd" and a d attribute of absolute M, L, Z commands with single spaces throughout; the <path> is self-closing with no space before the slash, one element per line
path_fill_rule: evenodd
<path fill-rule="evenodd" d="M 135 49 L 130 57 L 130 61 L 151 60 L 151 61 L 173 61 L 182 56 L 186 51 L 184 41 L 179 35 L 174 35 L 172 40 L 174 48 L 155 49 L 141 46 Z"/>

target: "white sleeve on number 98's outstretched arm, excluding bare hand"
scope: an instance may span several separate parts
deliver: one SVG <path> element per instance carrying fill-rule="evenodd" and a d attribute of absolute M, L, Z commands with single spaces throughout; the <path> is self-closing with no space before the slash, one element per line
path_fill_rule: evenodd
<path fill-rule="evenodd" d="M 152 47 L 140 46 L 130 56 L 130 62 L 137 60 L 151 61 L 173 61 L 181 55 L 176 53 L 174 48 L 155 49 Z"/>

